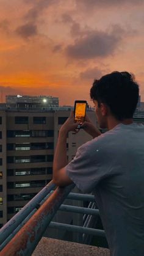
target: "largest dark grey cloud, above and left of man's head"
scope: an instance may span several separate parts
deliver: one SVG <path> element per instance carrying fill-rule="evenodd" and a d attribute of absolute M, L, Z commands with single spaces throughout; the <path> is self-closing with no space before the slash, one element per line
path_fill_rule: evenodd
<path fill-rule="evenodd" d="M 73 59 L 107 57 L 115 52 L 124 34 L 120 26 L 113 26 L 110 32 L 87 31 L 87 35 L 68 45 L 65 53 Z"/>

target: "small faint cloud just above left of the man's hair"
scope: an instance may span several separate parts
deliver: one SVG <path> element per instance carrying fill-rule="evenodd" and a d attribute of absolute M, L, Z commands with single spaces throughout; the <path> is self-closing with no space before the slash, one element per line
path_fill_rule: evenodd
<path fill-rule="evenodd" d="M 98 67 L 95 68 L 87 68 L 87 70 L 81 72 L 79 77 L 81 79 L 99 79 L 103 76 L 103 70 L 99 70 Z"/>

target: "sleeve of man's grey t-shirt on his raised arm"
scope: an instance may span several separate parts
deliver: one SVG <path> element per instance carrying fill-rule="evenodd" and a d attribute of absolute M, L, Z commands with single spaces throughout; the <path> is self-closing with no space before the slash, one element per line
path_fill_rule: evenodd
<path fill-rule="evenodd" d="M 92 192 L 105 175 L 99 168 L 99 150 L 90 150 L 88 144 L 78 148 L 76 156 L 65 167 L 68 177 L 82 192 Z"/>

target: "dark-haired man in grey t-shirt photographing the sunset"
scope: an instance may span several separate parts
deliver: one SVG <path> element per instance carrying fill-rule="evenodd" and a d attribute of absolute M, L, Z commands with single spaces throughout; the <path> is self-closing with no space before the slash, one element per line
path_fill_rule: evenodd
<path fill-rule="evenodd" d="M 128 72 L 96 80 L 90 90 L 100 134 L 90 120 L 83 124 L 93 139 L 67 163 L 67 133 L 76 130 L 73 114 L 60 128 L 54 156 L 56 185 L 72 182 L 94 192 L 112 256 L 144 255 L 144 126 L 133 123 L 139 86 Z M 81 131 L 79 131 L 81 132 Z"/>

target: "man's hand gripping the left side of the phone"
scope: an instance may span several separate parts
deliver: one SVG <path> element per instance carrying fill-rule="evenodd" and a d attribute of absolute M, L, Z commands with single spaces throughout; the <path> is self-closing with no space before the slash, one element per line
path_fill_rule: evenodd
<path fill-rule="evenodd" d="M 77 130 L 78 125 L 80 125 L 80 122 L 74 123 L 74 114 L 73 111 L 71 111 L 70 117 L 68 117 L 67 121 L 61 126 L 60 133 L 67 134 L 69 131 L 74 131 L 74 133 L 77 133 L 79 131 Z"/>

